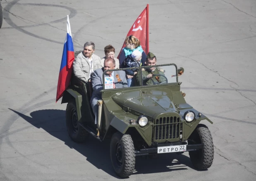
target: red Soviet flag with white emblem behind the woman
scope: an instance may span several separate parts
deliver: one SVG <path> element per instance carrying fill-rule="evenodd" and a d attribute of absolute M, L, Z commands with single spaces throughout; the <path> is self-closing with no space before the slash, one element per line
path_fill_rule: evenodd
<path fill-rule="evenodd" d="M 140 45 L 142 46 L 143 51 L 147 54 L 149 52 L 148 4 L 140 16 L 133 23 L 133 26 L 130 28 L 126 37 L 130 35 L 133 35 L 140 40 Z M 123 48 L 126 46 L 125 43 L 126 42 L 124 41 L 123 47 L 121 48 L 117 58 L 119 58 Z"/>

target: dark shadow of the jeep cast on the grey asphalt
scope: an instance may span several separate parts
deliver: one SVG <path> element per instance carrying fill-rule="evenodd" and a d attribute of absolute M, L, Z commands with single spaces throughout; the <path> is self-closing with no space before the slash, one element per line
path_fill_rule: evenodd
<path fill-rule="evenodd" d="M 64 110 L 45 109 L 34 111 L 30 113 L 31 117 L 19 113 L 18 111 L 12 111 L 36 128 L 42 128 L 50 135 L 65 142 L 65 145 L 87 157 L 87 161 L 98 169 L 105 171 L 113 177 L 119 178 L 116 176 L 111 164 L 109 151 L 110 139 L 100 142 L 90 135 L 85 143 L 79 144 L 73 142 L 68 136 L 66 129 Z M 193 168 L 190 158 L 183 154 L 157 154 L 156 157 L 153 158 L 137 156 L 133 174 L 185 170 L 187 167 Z"/>

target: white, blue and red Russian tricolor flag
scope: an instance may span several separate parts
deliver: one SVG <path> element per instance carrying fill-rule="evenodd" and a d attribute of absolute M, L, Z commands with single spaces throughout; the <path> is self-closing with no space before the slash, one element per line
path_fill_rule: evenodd
<path fill-rule="evenodd" d="M 73 68 L 73 61 L 75 54 L 74 54 L 74 46 L 72 42 L 72 35 L 70 29 L 70 22 L 67 16 L 67 36 L 64 43 L 63 54 L 60 64 L 60 73 L 59 73 L 59 80 L 57 86 L 57 95 L 56 95 L 56 102 L 63 96 L 63 92 L 67 89 L 71 75 L 72 75 L 72 68 Z"/>

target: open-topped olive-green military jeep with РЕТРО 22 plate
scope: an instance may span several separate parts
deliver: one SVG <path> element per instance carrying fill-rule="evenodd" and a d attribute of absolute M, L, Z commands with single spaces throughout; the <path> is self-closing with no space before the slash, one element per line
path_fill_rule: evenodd
<path fill-rule="evenodd" d="M 145 71 L 150 68 L 161 73 L 148 71 L 153 75 L 147 78 Z M 186 103 L 178 82 L 184 69 L 175 64 L 128 69 L 138 72 L 134 87 L 113 89 L 106 80 L 103 83 L 97 124 L 90 106 L 91 84 L 72 77 L 62 99 L 68 103 L 70 138 L 75 142 L 86 141 L 89 134 L 99 141 L 111 138 L 111 162 L 121 178 L 133 173 L 139 155 L 188 151 L 196 169 L 208 169 L 213 163 L 213 138 L 208 127 L 199 123 L 213 122 Z"/>

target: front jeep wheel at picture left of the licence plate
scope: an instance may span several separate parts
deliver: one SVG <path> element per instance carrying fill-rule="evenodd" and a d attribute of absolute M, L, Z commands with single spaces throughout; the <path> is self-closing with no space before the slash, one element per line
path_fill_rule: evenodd
<path fill-rule="evenodd" d="M 135 151 L 130 135 L 114 133 L 110 142 L 110 157 L 114 171 L 121 178 L 133 173 L 135 167 Z"/>

